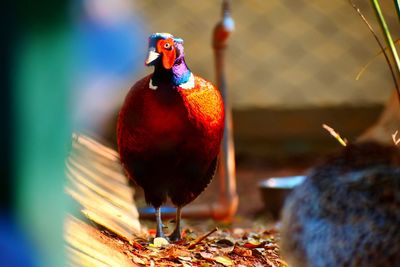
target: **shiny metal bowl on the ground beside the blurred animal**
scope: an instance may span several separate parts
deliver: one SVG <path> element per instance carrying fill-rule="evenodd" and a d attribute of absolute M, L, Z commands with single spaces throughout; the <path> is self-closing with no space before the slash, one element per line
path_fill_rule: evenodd
<path fill-rule="evenodd" d="M 300 185 L 306 176 L 286 176 L 286 177 L 270 177 L 260 181 L 262 200 L 264 202 L 265 211 L 269 213 L 273 219 L 279 219 L 281 209 L 285 203 L 287 195 Z"/>

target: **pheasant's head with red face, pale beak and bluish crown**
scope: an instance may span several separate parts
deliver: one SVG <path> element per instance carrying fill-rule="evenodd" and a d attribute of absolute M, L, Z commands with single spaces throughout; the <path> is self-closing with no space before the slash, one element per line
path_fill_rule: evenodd
<path fill-rule="evenodd" d="M 183 57 L 183 40 L 169 33 L 154 33 L 149 37 L 149 51 L 146 66 L 154 66 L 161 60 L 162 66 L 169 70 L 177 59 Z"/>

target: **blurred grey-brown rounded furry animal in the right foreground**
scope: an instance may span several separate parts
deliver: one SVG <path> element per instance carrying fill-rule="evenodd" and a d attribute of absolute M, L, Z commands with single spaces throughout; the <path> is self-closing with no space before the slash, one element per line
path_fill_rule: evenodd
<path fill-rule="evenodd" d="M 285 203 L 290 266 L 400 266 L 400 148 L 349 145 L 315 167 Z"/>

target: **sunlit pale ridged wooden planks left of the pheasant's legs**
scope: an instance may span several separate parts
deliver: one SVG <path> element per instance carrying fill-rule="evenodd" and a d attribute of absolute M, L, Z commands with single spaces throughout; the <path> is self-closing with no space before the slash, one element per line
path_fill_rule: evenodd
<path fill-rule="evenodd" d="M 122 240 L 143 236 L 134 190 L 128 185 L 116 151 L 74 134 L 66 175 L 65 192 L 93 225 L 108 229 Z M 104 234 L 76 217 L 68 216 L 65 240 L 71 266 L 135 266 L 112 246 L 112 239 L 105 242 Z"/>

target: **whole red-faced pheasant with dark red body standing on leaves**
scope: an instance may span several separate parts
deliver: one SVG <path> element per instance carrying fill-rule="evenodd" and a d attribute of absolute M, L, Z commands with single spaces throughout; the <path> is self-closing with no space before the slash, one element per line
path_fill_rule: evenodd
<path fill-rule="evenodd" d="M 168 33 L 149 37 L 145 65 L 154 72 L 130 89 L 117 125 L 118 150 L 128 176 L 155 208 L 156 237 L 165 237 L 160 207 L 170 198 L 181 239 L 181 210 L 215 174 L 224 131 L 219 91 L 185 63 L 183 40 Z"/>

